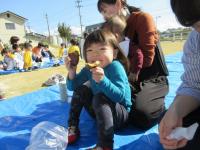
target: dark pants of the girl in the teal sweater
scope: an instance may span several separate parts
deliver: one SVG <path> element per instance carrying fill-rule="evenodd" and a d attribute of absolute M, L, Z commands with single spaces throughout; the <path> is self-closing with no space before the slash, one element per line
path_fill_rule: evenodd
<path fill-rule="evenodd" d="M 78 127 L 81 110 L 85 107 L 97 121 L 97 145 L 113 148 L 114 130 L 128 121 L 128 112 L 119 103 L 112 102 L 103 93 L 92 94 L 90 88 L 82 85 L 74 91 L 68 125 Z"/>

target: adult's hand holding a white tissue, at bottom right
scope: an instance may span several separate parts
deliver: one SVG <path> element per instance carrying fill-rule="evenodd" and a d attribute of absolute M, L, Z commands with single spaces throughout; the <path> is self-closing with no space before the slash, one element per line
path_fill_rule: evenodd
<path fill-rule="evenodd" d="M 186 139 L 167 139 L 167 136 L 170 135 L 173 129 L 182 126 L 182 120 L 183 119 L 178 115 L 174 108 L 174 105 L 169 108 L 161 120 L 159 126 L 160 142 L 163 144 L 165 149 L 177 149 L 184 147 L 187 144 Z"/>

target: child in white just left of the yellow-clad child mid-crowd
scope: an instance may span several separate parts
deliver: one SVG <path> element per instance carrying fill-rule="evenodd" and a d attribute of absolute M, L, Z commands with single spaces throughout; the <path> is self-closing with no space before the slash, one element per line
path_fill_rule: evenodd
<path fill-rule="evenodd" d="M 24 58 L 23 58 L 24 54 L 21 51 L 18 44 L 13 44 L 12 49 L 15 56 L 14 59 L 16 61 L 16 68 L 21 70 L 24 67 Z"/>

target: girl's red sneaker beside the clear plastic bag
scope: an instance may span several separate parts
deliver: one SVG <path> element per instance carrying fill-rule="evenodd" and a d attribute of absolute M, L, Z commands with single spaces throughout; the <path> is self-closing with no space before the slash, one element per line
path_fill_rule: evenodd
<path fill-rule="evenodd" d="M 80 131 L 78 127 L 71 126 L 68 127 L 68 144 L 73 144 L 77 141 L 80 136 Z"/>

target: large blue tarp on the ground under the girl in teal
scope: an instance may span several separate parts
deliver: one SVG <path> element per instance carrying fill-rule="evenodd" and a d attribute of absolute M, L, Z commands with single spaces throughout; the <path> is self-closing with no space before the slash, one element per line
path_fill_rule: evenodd
<path fill-rule="evenodd" d="M 166 56 L 170 71 L 170 92 L 166 106 L 172 102 L 183 72 L 182 53 Z M 31 129 L 42 121 L 51 121 L 67 127 L 69 104 L 60 101 L 57 86 L 48 87 L 23 96 L 0 102 L 0 150 L 24 150 L 29 144 Z M 116 150 L 162 150 L 158 126 L 147 131 L 128 127 L 114 136 Z M 85 149 L 96 144 L 96 124 L 86 111 L 80 119 L 81 137 L 69 150 Z"/>

